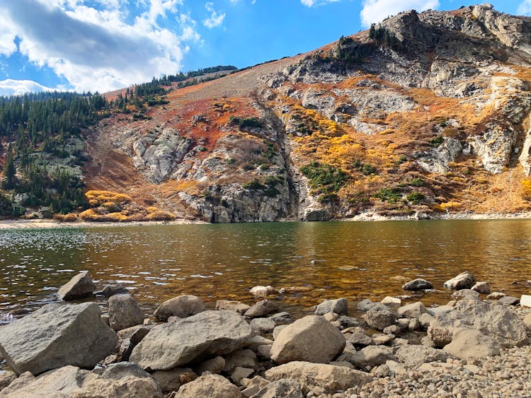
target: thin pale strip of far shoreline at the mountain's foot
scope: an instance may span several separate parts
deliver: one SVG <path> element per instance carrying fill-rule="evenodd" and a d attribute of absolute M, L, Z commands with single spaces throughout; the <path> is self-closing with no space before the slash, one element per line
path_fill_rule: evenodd
<path fill-rule="evenodd" d="M 367 221 L 428 221 L 428 220 L 525 220 L 531 219 L 531 211 L 518 213 L 444 213 L 444 214 L 424 214 L 415 213 L 411 216 L 380 216 L 372 211 L 360 213 L 351 218 L 332 219 L 330 221 L 342 222 L 367 222 Z M 290 219 L 282 219 L 278 222 L 293 222 Z M 304 221 L 300 221 L 304 222 Z M 307 221 L 310 222 L 310 221 Z M 178 219 L 173 221 L 131 221 L 120 222 L 98 222 L 98 221 L 76 221 L 65 223 L 55 221 L 52 218 L 39 218 L 33 220 L 1 220 L 0 230 L 8 229 L 39 229 L 39 228 L 95 228 L 95 227 L 126 227 L 126 226 L 181 226 L 181 225 L 202 225 L 210 224 L 200 220 Z"/>

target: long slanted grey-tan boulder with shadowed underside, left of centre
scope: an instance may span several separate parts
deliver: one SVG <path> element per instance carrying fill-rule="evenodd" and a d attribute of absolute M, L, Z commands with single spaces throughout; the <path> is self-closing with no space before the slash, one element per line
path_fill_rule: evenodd
<path fill-rule="evenodd" d="M 234 311 L 204 311 L 154 327 L 130 361 L 146 370 L 169 370 L 204 356 L 226 355 L 249 343 L 253 332 Z"/>

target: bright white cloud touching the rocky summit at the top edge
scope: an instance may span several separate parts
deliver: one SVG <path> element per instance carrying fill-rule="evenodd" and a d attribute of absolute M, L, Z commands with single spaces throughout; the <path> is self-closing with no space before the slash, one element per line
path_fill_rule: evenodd
<path fill-rule="evenodd" d="M 307 0 L 312 1 L 312 0 Z M 529 1 L 529 0 L 527 0 Z M 401 11 L 417 10 L 426 11 L 438 8 L 438 0 L 363 0 L 360 12 L 362 26 L 368 28 L 371 23 L 383 21 L 388 16 L 396 15 Z"/>

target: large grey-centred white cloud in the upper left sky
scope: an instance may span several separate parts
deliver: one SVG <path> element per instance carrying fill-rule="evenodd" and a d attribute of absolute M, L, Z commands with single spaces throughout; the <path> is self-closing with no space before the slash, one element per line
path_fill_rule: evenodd
<path fill-rule="evenodd" d="M 146 11 L 127 23 L 120 6 L 126 0 L 0 2 L 0 54 L 16 51 L 33 64 L 48 66 L 79 91 L 108 91 L 181 69 L 185 41 L 199 41 L 195 21 L 178 15 L 182 0 L 150 0 Z M 173 30 L 159 18 L 172 18 Z M 13 45 L 11 45 L 13 43 Z"/>

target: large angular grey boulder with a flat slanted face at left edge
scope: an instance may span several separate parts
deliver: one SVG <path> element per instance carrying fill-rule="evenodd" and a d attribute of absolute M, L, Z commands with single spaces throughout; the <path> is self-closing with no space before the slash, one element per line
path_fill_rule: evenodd
<path fill-rule="evenodd" d="M 39 375 L 65 365 L 93 368 L 117 341 L 96 303 L 54 303 L 2 327 L 0 353 L 19 375 Z"/>

